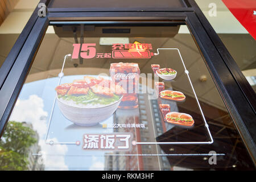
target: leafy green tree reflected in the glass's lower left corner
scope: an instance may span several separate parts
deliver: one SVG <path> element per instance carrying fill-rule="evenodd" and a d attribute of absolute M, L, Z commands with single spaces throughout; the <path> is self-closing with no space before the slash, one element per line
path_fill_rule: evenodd
<path fill-rule="evenodd" d="M 0 140 L 0 170 L 26 170 L 26 150 L 36 143 L 35 131 L 10 121 Z"/>

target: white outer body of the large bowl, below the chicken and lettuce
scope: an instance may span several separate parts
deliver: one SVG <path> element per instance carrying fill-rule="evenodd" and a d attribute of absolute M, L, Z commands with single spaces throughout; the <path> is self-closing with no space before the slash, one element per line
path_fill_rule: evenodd
<path fill-rule="evenodd" d="M 93 126 L 109 118 L 117 110 L 121 100 L 113 102 L 110 105 L 99 107 L 79 107 L 70 106 L 57 98 L 59 109 L 65 118 L 79 126 Z"/>

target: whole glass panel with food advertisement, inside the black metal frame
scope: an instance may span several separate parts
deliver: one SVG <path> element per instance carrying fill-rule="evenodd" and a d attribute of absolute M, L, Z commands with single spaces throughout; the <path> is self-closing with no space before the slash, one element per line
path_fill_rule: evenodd
<path fill-rule="evenodd" d="M 188 32 L 49 26 L 1 151 L 15 169 L 253 169 Z"/>

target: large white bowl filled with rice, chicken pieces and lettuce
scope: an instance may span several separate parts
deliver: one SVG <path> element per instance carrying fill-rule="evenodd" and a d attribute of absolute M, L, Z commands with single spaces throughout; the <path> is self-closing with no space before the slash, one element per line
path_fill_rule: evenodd
<path fill-rule="evenodd" d="M 69 121 L 80 126 L 93 126 L 117 110 L 125 90 L 111 80 L 85 76 L 83 80 L 55 88 L 57 104 Z"/>

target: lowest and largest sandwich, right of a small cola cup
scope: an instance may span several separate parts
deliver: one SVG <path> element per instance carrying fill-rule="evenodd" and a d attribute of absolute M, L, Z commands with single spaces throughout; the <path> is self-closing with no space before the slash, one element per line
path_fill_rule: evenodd
<path fill-rule="evenodd" d="M 167 113 L 166 121 L 168 123 L 182 126 L 193 126 L 195 123 L 191 115 L 177 112 Z"/>

